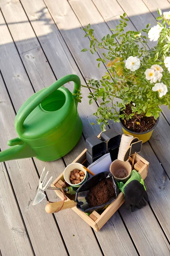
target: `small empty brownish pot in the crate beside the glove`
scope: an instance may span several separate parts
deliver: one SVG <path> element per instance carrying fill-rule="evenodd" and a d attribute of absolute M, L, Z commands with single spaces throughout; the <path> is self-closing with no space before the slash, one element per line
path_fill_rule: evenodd
<path fill-rule="evenodd" d="M 119 159 L 114 160 L 110 166 L 110 172 L 113 174 L 115 180 L 125 182 L 129 179 L 130 173 L 132 171 L 132 166 L 129 162 L 124 162 Z M 127 174 L 126 177 L 121 178 L 122 175 Z M 120 177 L 116 177 L 115 175 Z"/>

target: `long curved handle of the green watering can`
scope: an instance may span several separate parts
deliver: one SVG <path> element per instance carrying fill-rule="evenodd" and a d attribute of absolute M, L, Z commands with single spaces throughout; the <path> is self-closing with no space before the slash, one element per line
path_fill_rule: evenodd
<path fill-rule="evenodd" d="M 20 113 L 18 116 L 18 122 L 16 122 L 17 131 L 23 132 L 23 122 L 27 118 L 27 116 L 36 108 L 44 99 L 46 99 L 51 93 L 54 93 L 62 85 L 74 81 L 74 90 L 73 94 L 76 94 L 81 86 L 81 81 L 77 75 L 67 75 L 63 76 L 53 84 L 51 84 L 46 90 L 43 90 L 32 102 L 28 104 L 28 106 Z M 73 96 L 76 97 L 75 95 Z"/>

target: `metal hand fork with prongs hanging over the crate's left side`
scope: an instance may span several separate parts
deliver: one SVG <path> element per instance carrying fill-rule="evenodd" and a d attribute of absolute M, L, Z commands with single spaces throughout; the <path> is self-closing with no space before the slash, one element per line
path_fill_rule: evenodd
<path fill-rule="evenodd" d="M 61 190 L 60 188 L 49 187 L 49 185 L 51 184 L 51 180 L 53 178 L 52 176 L 49 178 L 49 180 L 45 184 L 45 182 L 47 180 L 47 177 L 48 177 L 48 172 L 46 173 L 46 175 L 45 175 L 45 177 L 43 179 L 44 172 L 45 172 L 45 167 L 44 167 L 44 169 L 42 171 L 42 174 L 40 176 L 39 185 L 37 186 L 35 198 L 34 198 L 34 201 L 33 201 L 32 205 L 39 204 L 45 198 L 45 193 L 44 192 L 45 192 L 46 189 Z M 72 194 L 72 195 L 76 194 L 76 191 L 71 186 L 63 188 L 62 190 L 65 191 L 66 193 L 69 193 L 69 194 Z"/>

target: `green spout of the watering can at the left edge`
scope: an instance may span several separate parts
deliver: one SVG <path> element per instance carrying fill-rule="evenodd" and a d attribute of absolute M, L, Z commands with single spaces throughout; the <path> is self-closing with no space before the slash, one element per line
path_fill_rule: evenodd
<path fill-rule="evenodd" d="M 28 158 L 28 157 L 36 157 L 35 152 L 32 148 L 20 138 L 15 138 L 8 141 L 8 145 L 10 148 L 0 152 L 0 162 Z"/>

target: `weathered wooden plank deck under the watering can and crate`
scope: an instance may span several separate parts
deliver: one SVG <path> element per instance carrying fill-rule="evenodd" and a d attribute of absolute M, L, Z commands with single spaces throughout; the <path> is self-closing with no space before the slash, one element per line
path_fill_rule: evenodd
<path fill-rule="evenodd" d="M 156 25 L 156 9 L 170 10 L 168 0 L 0 0 L 0 150 L 17 136 L 14 118 L 34 92 L 66 74 L 77 74 L 82 84 L 99 79 L 97 54 L 83 53 L 89 42 L 82 27 L 91 23 L 102 38 L 126 12 L 129 29 Z M 149 42 L 148 47 L 152 47 Z M 100 55 L 100 52 L 99 52 Z M 72 90 L 72 84 L 68 84 Z M 94 103 L 88 91 L 78 110 L 83 135 L 60 160 L 36 158 L 0 164 L 0 256 L 168 256 L 170 255 L 170 111 L 163 109 L 159 124 L 141 155 L 150 162 L 145 180 L 150 203 L 131 213 L 123 205 L 98 232 L 71 209 L 45 213 L 45 202 L 32 206 L 44 166 L 54 179 L 85 148 L 85 138 L 99 134 L 91 126 Z M 110 128 L 122 132 L 110 122 Z M 50 201 L 57 198 L 47 192 Z"/>

